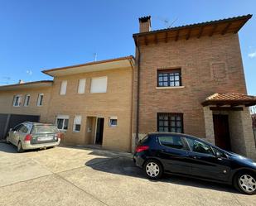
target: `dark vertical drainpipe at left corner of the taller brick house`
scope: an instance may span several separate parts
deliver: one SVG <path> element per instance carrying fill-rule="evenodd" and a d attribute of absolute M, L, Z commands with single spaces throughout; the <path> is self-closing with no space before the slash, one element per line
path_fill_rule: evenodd
<path fill-rule="evenodd" d="M 138 36 L 137 36 L 137 47 L 138 47 L 138 79 L 137 79 L 137 111 L 136 111 L 136 137 L 135 144 L 138 144 L 138 131 L 139 131 L 139 93 L 140 93 L 140 63 L 141 63 L 141 52 L 138 44 Z"/>

